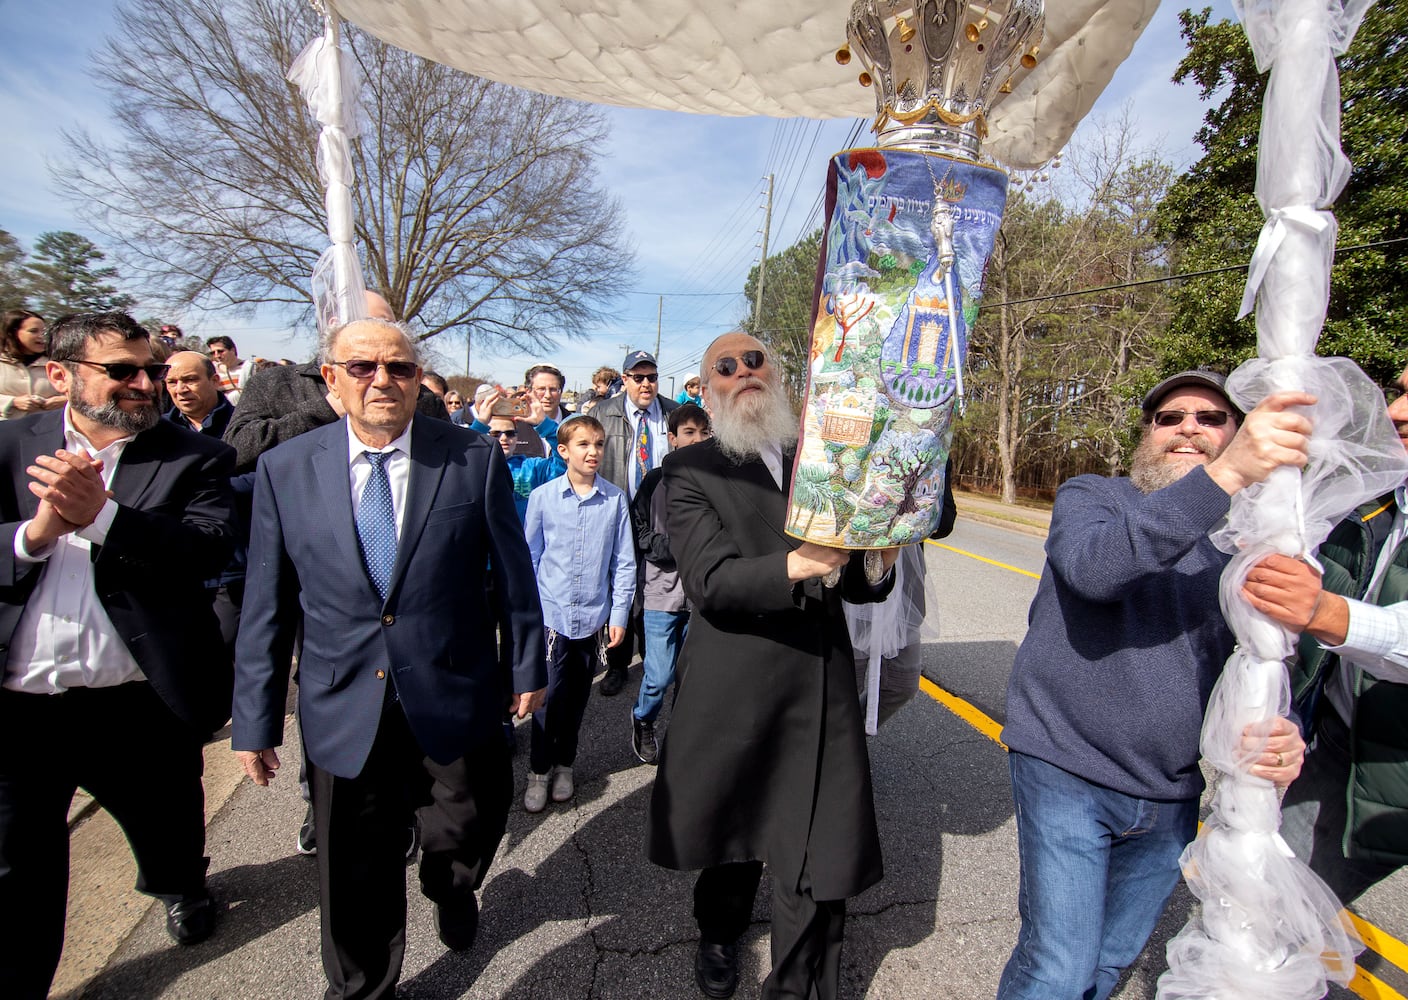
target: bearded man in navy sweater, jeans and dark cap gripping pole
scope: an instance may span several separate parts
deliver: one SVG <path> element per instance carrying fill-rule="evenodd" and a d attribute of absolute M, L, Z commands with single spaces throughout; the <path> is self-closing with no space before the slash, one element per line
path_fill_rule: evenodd
<path fill-rule="evenodd" d="M 998 1000 L 1104 1000 L 1143 949 L 1194 835 L 1202 711 L 1232 651 L 1208 531 L 1233 493 L 1305 465 L 1291 407 L 1314 401 L 1276 393 L 1243 420 L 1222 376 L 1183 372 L 1145 397 L 1128 477 L 1057 492 L 1007 689 L 1022 927 Z M 1243 745 L 1259 777 L 1300 773 L 1294 724 Z"/>

